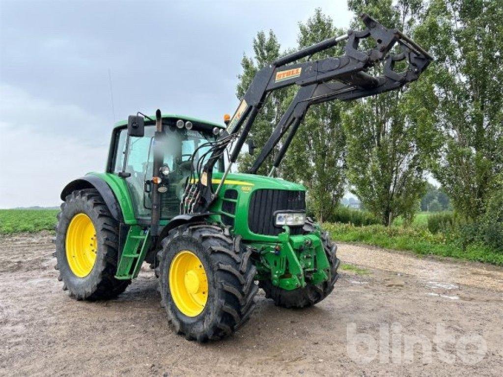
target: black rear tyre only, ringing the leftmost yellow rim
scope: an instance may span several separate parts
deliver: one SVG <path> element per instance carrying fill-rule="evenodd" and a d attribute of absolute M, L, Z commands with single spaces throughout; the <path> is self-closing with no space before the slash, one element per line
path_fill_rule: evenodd
<path fill-rule="evenodd" d="M 79 277 L 70 267 L 66 252 L 66 237 L 72 219 L 87 215 L 96 231 L 96 259 L 86 276 Z M 104 300 L 115 298 L 125 291 L 131 280 L 118 280 L 117 257 L 119 248 L 119 224 L 112 217 L 97 190 L 86 189 L 72 192 L 61 205 L 56 226 L 56 270 L 63 290 L 69 291 L 76 300 Z"/>

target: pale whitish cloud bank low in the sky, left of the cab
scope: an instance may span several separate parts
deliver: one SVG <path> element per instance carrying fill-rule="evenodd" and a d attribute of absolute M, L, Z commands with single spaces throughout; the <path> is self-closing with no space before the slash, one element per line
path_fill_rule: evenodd
<path fill-rule="evenodd" d="M 6 85 L 0 87 L 0 208 L 58 205 L 66 183 L 103 171 L 110 127 L 76 105 L 55 105 Z M 55 123 L 72 127 L 60 134 Z"/>

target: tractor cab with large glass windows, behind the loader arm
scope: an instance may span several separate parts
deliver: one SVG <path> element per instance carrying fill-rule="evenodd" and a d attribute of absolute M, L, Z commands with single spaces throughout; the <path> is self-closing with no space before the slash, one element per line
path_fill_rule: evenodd
<path fill-rule="evenodd" d="M 161 197 L 160 218 L 169 220 L 180 212 L 187 178 L 195 168 L 191 156 L 196 151 L 198 158 L 203 156 L 208 149 L 203 144 L 215 141 L 224 126 L 178 115 L 162 115 L 161 124 L 162 135 L 157 139 L 160 144 L 157 150 L 162 153 L 161 166 L 155 175 L 160 178 L 157 187 Z M 131 132 L 131 127 L 128 132 L 128 121 L 115 125 L 107 172 L 125 178 L 135 217 L 148 221 L 152 210 L 155 121 L 145 118 L 140 127 L 143 132 Z M 222 169 L 223 159 L 220 159 L 214 171 Z"/>

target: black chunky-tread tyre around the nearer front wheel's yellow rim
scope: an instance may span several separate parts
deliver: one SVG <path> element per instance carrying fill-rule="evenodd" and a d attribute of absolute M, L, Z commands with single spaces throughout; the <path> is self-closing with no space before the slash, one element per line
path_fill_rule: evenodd
<path fill-rule="evenodd" d="M 177 306 L 173 296 L 179 293 L 170 287 L 170 268 L 187 251 L 202 262 L 207 280 L 206 302 L 193 316 Z M 249 319 L 258 291 L 254 282 L 257 270 L 250 255 L 240 236 L 232 238 L 220 226 L 187 224 L 170 231 L 158 253 L 157 274 L 161 305 L 177 333 L 188 340 L 207 342 L 229 336 Z"/>

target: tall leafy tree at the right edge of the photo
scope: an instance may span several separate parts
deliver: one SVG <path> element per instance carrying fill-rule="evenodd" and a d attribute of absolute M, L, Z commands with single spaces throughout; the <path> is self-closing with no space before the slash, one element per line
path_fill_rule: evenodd
<path fill-rule="evenodd" d="M 432 170 L 472 221 L 503 190 L 496 180 L 503 171 L 502 19 L 500 0 L 432 0 L 415 33 L 435 56 L 428 81 L 443 147 Z"/>

